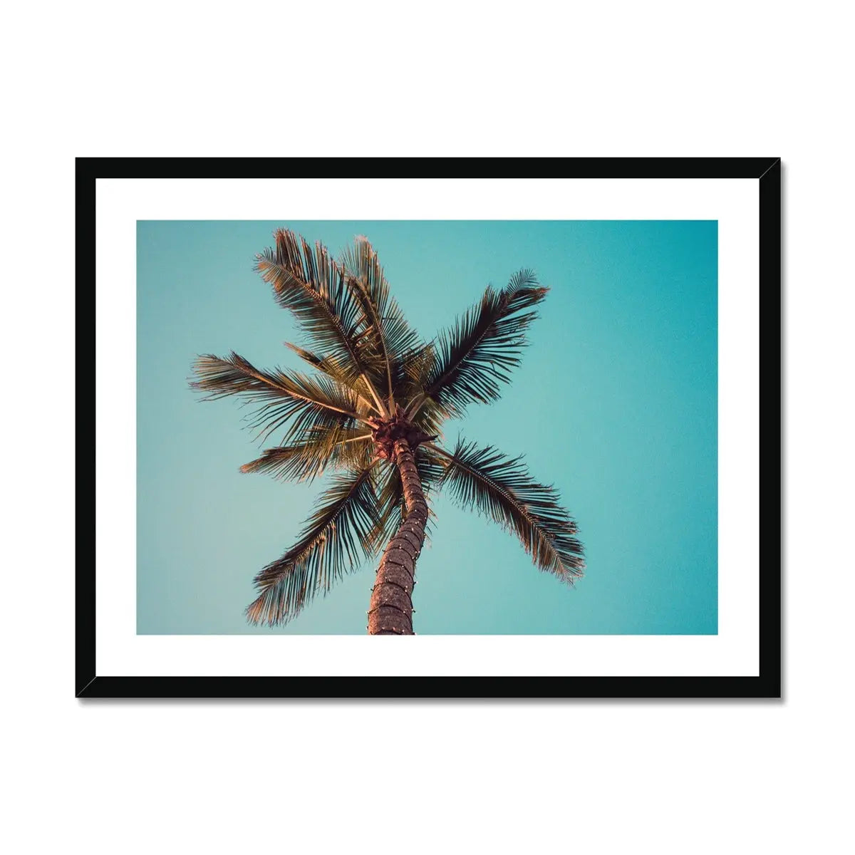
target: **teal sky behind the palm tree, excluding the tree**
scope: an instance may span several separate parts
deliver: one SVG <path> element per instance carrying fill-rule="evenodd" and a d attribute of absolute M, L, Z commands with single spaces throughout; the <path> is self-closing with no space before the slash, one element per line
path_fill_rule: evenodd
<path fill-rule="evenodd" d="M 715 221 L 139 221 L 137 631 L 364 634 L 374 567 L 284 628 L 243 611 L 252 577 L 296 539 L 325 480 L 241 475 L 259 446 L 237 398 L 199 401 L 193 359 L 237 351 L 304 369 L 292 316 L 253 272 L 275 227 L 337 253 L 374 245 L 410 323 L 431 338 L 519 268 L 551 292 L 503 397 L 445 425 L 524 452 L 579 525 L 575 587 L 492 522 L 434 498 L 418 634 L 714 634 Z"/>

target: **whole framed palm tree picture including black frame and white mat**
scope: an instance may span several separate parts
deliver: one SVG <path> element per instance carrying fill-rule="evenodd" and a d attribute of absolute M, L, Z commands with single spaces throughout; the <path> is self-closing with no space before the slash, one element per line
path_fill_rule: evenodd
<path fill-rule="evenodd" d="M 77 696 L 780 697 L 779 158 L 76 168 Z"/>

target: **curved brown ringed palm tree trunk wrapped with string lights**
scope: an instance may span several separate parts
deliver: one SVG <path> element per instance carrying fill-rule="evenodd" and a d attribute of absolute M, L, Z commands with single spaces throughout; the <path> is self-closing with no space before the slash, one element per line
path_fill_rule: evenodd
<path fill-rule="evenodd" d="M 386 546 L 371 592 L 369 635 L 414 635 L 413 586 L 416 558 L 425 541 L 428 503 L 416 460 L 406 439 L 396 439 L 394 460 L 404 485 L 407 518 Z"/>

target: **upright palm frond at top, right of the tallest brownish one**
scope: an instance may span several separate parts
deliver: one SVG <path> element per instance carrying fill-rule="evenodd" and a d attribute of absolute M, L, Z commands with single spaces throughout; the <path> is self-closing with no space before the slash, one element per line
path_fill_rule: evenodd
<path fill-rule="evenodd" d="M 354 298 L 360 306 L 360 335 L 369 337 L 374 351 L 381 354 L 386 371 L 386 395 L 394 410 L 392 374 L 404 356 L 416 349 L 418 333 L 410 327 L 398 302 L 389 292 L 374 247 L 363 236 L 342 252 L 339 263 L 348 275 Z"/>

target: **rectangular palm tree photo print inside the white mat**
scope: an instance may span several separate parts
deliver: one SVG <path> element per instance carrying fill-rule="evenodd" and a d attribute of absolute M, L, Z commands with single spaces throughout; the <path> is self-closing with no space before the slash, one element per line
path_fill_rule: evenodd
<path fill-rule="evenodd" d="M 138 632 L 716 633 L 716 251 L 140 221 Z"/>

